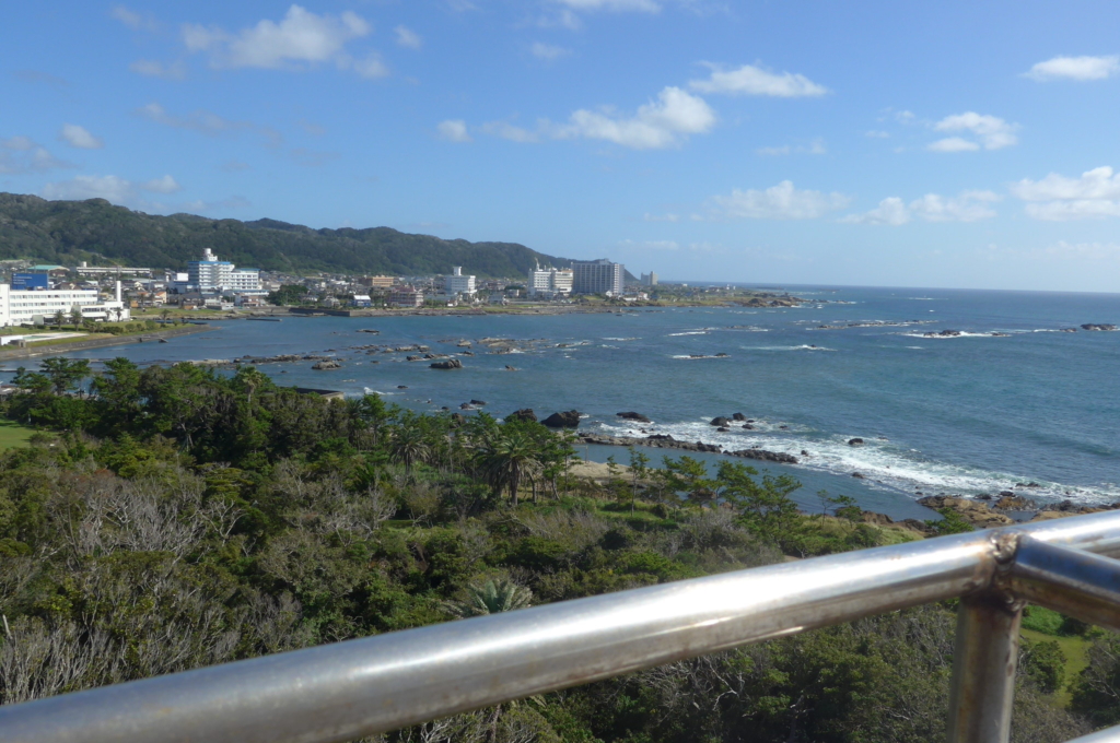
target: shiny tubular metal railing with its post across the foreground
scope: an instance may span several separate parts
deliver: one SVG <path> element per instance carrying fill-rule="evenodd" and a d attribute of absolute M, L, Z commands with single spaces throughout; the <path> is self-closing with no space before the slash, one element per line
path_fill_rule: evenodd
<path fill-rule="evenodd" d="M 961 598 L 951 743 L 1006 742 L 1026 601 L 1120 629 L 1120 511 L 579 599 L 0 707 L 6 743 L 328 743 Z M 1120 743 L 1120 728 L 1079 739 Z"/>

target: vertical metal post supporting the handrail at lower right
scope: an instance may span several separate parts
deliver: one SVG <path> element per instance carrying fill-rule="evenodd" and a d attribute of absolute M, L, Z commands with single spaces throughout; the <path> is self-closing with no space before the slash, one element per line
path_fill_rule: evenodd
<path fill-rule="evenodd" d="M 1023 602 L 989 592 L 961 600 L 956 614 L 949 743 L 1007 743 Z"/>

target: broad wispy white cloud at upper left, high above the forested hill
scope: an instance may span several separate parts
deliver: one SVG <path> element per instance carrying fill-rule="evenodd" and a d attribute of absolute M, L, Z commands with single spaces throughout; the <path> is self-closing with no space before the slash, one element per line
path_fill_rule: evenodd
<path fill-rule="evenodd" d="M 293 4 L 280 22 L 264 19 L 237 34 L 187 23 L 183 40 L 189 51 L 207 53 L 214 67 L 282 69 L 300 63 L 334 62 L 343 69 L 353 67 L 360 75 L 379 77 L 383 69 L 377 67 L 380 60 L 354 62 L 345 53 L 346 44 L 371 31 L 370 23 L 352 11 L 318 16 Z"/>

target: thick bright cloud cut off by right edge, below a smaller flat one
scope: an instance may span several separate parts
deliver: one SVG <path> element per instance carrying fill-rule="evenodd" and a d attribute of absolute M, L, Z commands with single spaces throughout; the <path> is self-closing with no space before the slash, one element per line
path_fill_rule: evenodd
<path fill-rule="evenodd" d="M 1024 178 L 1011 186 L 1027 215 L 1048 222 L 1120 216 L 1120 173 L 1104 166 L 1068 178 L 1049 173 L 1042 180 Z"/>

